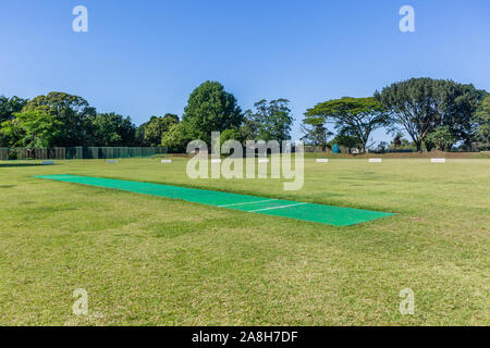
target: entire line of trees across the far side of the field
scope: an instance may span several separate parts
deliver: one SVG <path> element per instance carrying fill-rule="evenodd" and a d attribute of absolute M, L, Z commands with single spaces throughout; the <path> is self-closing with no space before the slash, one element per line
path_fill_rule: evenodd
<path fill-rule="evenodd" d="M 65 92 L 30 100 L 0 96 L 0 147 L 164 146 L 185 152 L 191 140 L 210 142 L 211 132 L 221 132 L 221 141 L 282 141 L 291 139 L 294 122 L 289 104 L 283 98 L 264 99 L 242 111 L 223 85 L 208 80 L 191 94 L 182 117 L 167 113 L 136 126 L 130 116 L 98 113 L 84 98 Z M 372 97 L 319 102 L 306 111 L 302 123 L 307 144 L 338 144 L 360 151 L 372 146 L 370 136 L 381 127 L 394 135 L 391 146 L 397 148 L 488 147 L 490 96 L 473 85 L 412 78 Z"/>

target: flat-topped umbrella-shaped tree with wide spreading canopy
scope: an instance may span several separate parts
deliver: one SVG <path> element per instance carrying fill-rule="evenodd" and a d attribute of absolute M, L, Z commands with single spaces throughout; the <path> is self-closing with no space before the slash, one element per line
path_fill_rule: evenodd
<path fill-rule="evenodd" d="M 339 134 L 358 139 L 366 151 L 372 130 L 389 124 L 387 109 L 373 97 L 328 100 L 308 109 L 304 124 L 333 123 Z"/>

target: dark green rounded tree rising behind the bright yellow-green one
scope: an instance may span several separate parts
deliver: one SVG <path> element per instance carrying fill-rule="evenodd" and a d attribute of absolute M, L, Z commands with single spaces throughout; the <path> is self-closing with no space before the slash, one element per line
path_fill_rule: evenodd
<path fill-rule="evenodd" d="M 62 123 L 54 139 L 57 146 L 83 146 L 93 141 L 96 110 L 82 97 L 52 91 L 29 100 L 23 111 L 40 111 Z"/>

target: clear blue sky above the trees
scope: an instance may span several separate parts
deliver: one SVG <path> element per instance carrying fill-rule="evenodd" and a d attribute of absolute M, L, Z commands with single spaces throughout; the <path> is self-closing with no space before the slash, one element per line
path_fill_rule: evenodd
<path fill-rule="evenodd" d="M 72 30 L 77 4 L 88 33 Z M 399 29 L 404 4 L 416 33 Z M 2 0 L 0 95 L 66 91 L 140 124 L 182 115 L 189 92 L 212 79 L 244 110 L 290 99 L 298 138 L 315 103 L 409 77 L 490 91 L 489 42 L 488 0 Z"/>

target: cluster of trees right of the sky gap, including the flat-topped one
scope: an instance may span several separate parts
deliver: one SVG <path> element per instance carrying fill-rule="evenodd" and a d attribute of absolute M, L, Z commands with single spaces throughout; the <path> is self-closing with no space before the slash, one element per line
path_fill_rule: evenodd
<path fill-rule="evenodd" d="M 489 147 L 490 96 L 473 85 L 448 79 L 411 78 L 376 91 L 372 97 L 327 100 L 308 109 L 305 139 L 317 146 L 339 144 L 366 151 L 371 133 L 380 127 L 395 135 L 393 147 L 406 142 L 417 151 L 448 151 Z M 334 133 L 335 138 L 328 141 Z M 407 144 L 404 144 L 407 146 Z M 385 144 L 381 142 L 381 147 Z"/>

